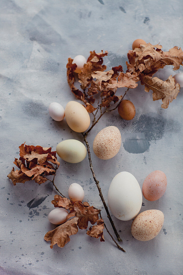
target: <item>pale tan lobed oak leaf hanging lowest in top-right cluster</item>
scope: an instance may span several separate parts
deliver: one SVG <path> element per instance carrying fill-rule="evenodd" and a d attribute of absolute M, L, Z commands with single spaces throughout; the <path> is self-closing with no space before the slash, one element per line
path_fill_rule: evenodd
<path fill-rule="evenodd" d="M 151 78 L 150 76 L 140 76 L 141 83 L 145 85 L 145 91 L 153 91 L 153 100 L 162 99 L 162 108 L 168 108 L 169 102 L 176 99 L 178 93 L 180 92 L 180 85 L 176 84 L 172 75 L 166 81 L 163 81 L 157 77 Z"/>

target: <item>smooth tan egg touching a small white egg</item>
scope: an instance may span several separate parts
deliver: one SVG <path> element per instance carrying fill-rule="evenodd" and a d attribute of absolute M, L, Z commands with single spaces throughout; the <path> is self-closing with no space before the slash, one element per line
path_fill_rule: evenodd
<path fill-rule="evenodd" d="M 85 107 L 76 101 L 69 101 L 65 107 L 65 119 L 68 126 L 77 133 L 82 133 L 90 126 L 90 116 Z"/>

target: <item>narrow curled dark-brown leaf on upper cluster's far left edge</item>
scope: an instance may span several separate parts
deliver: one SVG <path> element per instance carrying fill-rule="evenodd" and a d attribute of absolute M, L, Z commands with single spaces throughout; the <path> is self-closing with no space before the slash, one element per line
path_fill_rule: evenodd
<path fill-rule="evenodd" d="M 66 65 L 66 68 L 67 68 L 67 82 L 69 84 L 69 87 L 70 87 L 71 91 L 75 95 L 75 97 L 82 100 L 84 103 L 86 103 L 85 95 L 79 89 L 77 89 L 74 86 L 74 82 L 75 82 L 74 70 L 76 70 L 77 65 L 72 64 L 72 62 L 73 62 L 73 59 L 69 57 L 68 58 L 68 63 Z"/>

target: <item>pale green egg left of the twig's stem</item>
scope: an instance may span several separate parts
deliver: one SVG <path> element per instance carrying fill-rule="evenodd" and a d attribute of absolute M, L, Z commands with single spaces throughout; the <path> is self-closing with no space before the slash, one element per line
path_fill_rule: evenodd
<path fill-rule="evenodd" d="M 78 163 L 86 157 L 85 145 L 76 139 L 66 139 L 61 141 L 56 148 L 57 154 L 62 160 L 69 163 Z"/>

